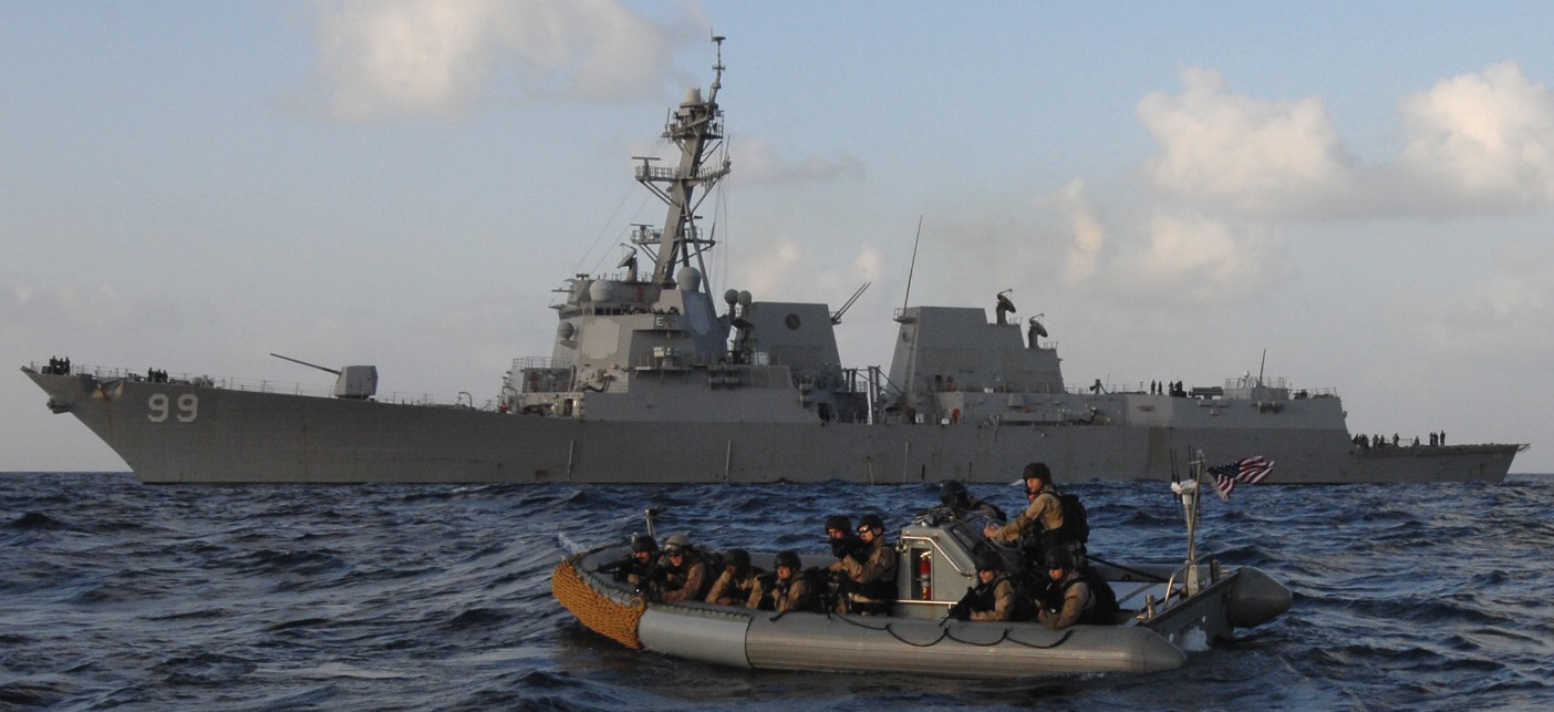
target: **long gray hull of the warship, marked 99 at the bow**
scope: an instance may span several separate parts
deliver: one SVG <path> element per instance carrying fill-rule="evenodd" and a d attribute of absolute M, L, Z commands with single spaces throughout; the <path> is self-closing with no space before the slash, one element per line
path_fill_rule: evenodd
<path fill-rule="evenodd" d="M 1169 480 L 1263 455 L 1265 483 L 1501 482 L 1517 445 L 1358 449 L 1338 428 L 605 421 L 26 370 L 148 483 Z M 1190 418 L 1183 418 L 1190 420 Z"/>

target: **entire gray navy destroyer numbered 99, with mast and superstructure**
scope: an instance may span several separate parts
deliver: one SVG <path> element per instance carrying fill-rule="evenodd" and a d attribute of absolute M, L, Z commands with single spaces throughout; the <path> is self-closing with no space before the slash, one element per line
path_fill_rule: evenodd
<path fill-rule="evenodd" d="M 1193 451 L 1273 460 L 1263 483 L 1500 482 L 1526 448 L 1372 446 L 1336 393 L 1260 375 L 1069 387 L 1044 326 L 1002 295 L 993 319 L 904 306 L 889 370 L 844 367 L 845 306 L 713 294 L 696 210 L 730 171 L 721 53 L 713 70 L 668 118 L 678 165 L 636 165 L 662 227 L 632 232 L 618 272 L 567 280 L 550 356 L 514 359 L 482 404 L 379 400 L 373 365 L 319 367 L 336 381 L 317 395 L 57 358 L 22 372 L 149 483 L 1009 482 L 1032 460 L 1068 482 L 1167 480 Z"/>

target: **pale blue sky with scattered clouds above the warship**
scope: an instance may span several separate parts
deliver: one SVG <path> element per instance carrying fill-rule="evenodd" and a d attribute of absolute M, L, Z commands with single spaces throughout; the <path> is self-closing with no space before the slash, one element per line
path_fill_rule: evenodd
<path fill-rule="evenodd" d="M 0 362 L 494 398 L 664 219 L 631 157 L 712 34 L 715 294 L 870 284 L 845 365 L 1010 289 L 1071 386 L 1263 373 L 1554 473 L 1542 2 L 11 0 Z M 0 471 L 127 469 L 45 400 L 0 378 Z"/>

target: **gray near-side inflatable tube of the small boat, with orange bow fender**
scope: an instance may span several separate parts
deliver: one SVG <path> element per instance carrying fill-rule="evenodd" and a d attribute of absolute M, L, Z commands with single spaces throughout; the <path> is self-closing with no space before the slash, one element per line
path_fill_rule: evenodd
<path fill-rule="evenodd" d="M 1167 634 L 1141 625 L 1054 631 L 1040 623 L 643 603 L 591 571 L 597 561 L 618 553 L 594 552 L 563 561 L 552 578 L 555 597 L 586 626 L 628 647 L 698 662 L 755 670 L 1033 678 L 1148 673 L 1178 668 L 1187 659 Z M 1204 625 L 1223 619 L 1223 611 L 1218 616 L 1197 611 L 1178 620 Z M 623 630 L 629 634 L 623 636 Z"/>

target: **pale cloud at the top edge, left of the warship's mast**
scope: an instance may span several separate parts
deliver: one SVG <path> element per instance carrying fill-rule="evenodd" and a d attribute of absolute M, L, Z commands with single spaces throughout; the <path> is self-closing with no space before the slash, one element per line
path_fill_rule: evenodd
<path fill-rule="evenodd" d="M 328 0 L 317 5 L 319 75 L 329 113 L 455 117 L 503 72 L 528 98 L 656 96 L 684 30 L 614 0 Z"/>

